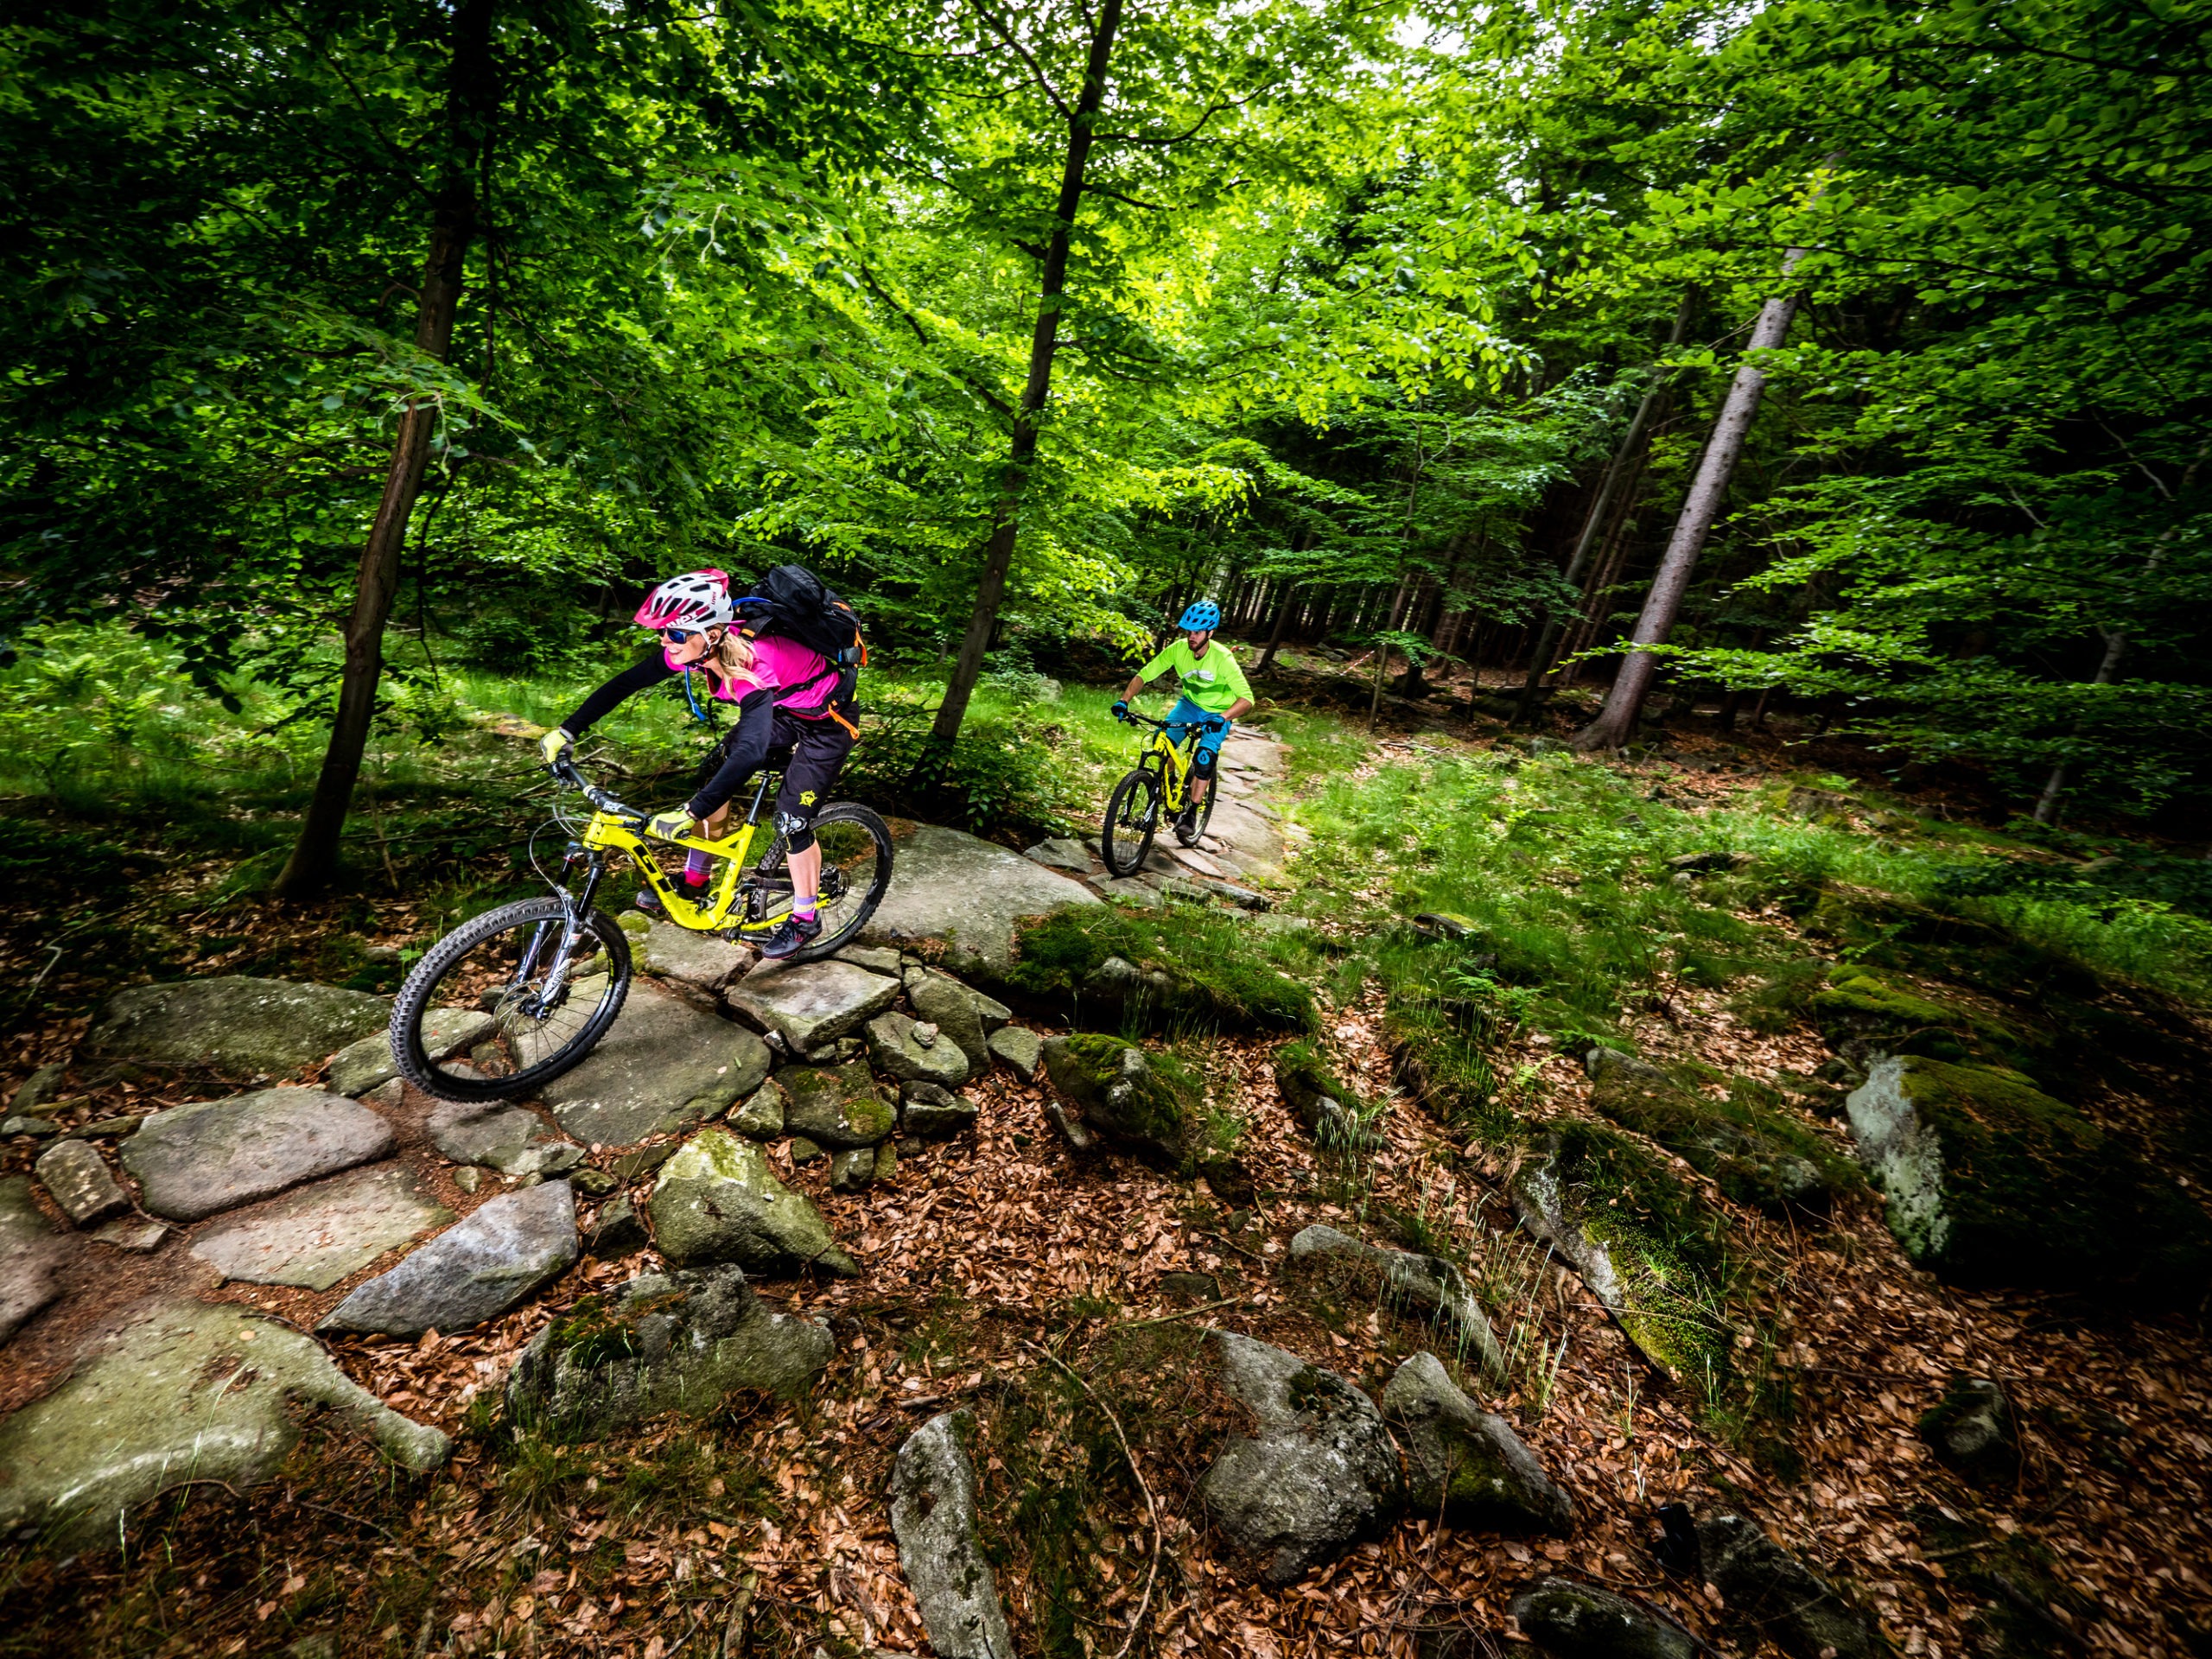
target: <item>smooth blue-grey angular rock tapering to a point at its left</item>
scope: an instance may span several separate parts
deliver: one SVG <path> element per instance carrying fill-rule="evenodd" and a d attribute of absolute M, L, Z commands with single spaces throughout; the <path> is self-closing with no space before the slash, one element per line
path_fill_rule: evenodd
<path fill-rule="evenodd" d="M 338 1303 L 319 1332 L 420 1336 L 498 1318 L 575 1265 L 575 1194 L 566 1181 L 502 1192 Z"/>

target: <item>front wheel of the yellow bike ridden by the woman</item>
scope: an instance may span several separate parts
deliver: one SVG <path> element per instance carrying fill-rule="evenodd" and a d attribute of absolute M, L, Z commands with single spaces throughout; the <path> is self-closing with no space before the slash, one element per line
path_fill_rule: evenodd
<path fill-rule="evenodd" d="M 392 1060 L 438 1099 L 518 1099 L 571 1071 L 630 995 L 630 942 L 591 911 L 526 898 L 462 922 L 416 962 L 392 1004 Z"/>

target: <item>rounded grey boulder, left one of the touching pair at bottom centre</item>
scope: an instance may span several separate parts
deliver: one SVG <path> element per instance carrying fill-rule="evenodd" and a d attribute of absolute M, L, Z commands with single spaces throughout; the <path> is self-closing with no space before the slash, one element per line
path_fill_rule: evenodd
<path fill-rule="evenodd" d="M 1259 1433 L 1199 1478 L 1199 1502 L 1243 1566 L 1281 1588 L 1387 1531 L 1405 1480 L 1374 1402 L 1250 1336 L 1214 1332 L 1212 1345 L 1221 1385 L 1259 1418 Z"/>

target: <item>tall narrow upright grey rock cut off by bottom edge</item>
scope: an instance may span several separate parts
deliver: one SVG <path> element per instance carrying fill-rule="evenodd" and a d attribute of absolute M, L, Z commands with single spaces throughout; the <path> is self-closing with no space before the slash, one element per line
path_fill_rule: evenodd
<path fill-rule="evenodd" d="M 1013 1659 L 998 1579 L 982 1553 L 973 1438 L 967 1411 L 945 1411 L 907 1436 L 891 1462 L 891 1533 L 931 1652 Z"/>

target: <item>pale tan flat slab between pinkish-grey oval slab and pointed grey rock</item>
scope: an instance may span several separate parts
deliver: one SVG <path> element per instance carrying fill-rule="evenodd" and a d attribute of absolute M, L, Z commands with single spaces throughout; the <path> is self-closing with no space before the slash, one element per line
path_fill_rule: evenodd
<path fill-rule="evenodd" d="M 453 1212 L 405 1164 L 378 1164 L 288 1192 L 192 1239 L 223 1279 L 330 1290 L 387 1250 L 442 1228 Z"/>

